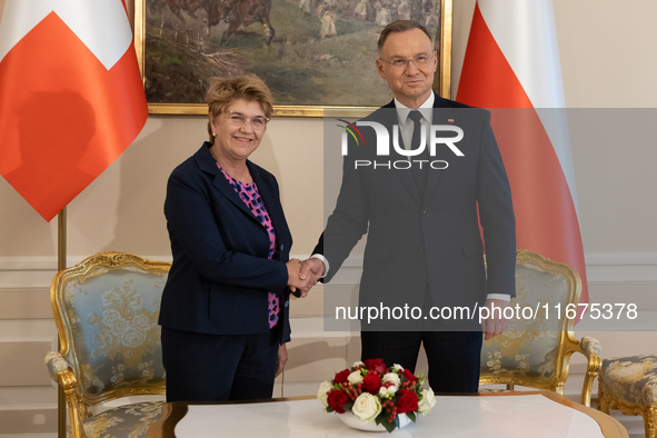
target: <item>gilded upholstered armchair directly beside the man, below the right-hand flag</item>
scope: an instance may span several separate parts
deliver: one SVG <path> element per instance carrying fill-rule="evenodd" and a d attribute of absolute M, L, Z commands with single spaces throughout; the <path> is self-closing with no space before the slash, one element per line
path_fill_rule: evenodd
<path fill-rule="evenodd" d="M 504 335 L 485 341 L 481 348 L 480 385 L 506 384 L 564 394 L 569 360 L 574 352 L 587 359 L 580 402 L 590 406 L 596 375 L 600 370 L 599 342 L 573 336 L 573 313 L 581 293 L 581 280 L 575 269 L 525 249 L 516 253 L 516 298 L 511 307 L 522 310 L 509 322 Z M 560 318 L 559 312 L 560 309 Z M 546 315 L 547 312 L 547 315 Z"/>

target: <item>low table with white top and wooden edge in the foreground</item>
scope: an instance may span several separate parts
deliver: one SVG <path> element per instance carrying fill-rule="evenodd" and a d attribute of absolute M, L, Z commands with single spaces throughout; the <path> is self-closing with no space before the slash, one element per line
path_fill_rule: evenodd
<path fill-rule="evenodd" d="M 350 414 L 342 414 L 350 415 Z M 365 437 L 315 398 L 248 404 L 167 404 L 149 438 Z M 394 432 L 397 438 L 627 438 L 611 417 L 554 392 L 439 396 L 428 416 Z M 381 434 L 381 437 L 387 434 Z"/>

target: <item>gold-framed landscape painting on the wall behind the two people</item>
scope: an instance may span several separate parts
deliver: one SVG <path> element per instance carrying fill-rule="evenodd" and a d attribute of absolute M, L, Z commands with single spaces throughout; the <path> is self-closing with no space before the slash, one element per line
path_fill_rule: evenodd
<path fill-rule="evenodd" d="M 448 97 L 451 2 L 135 0 L 135 43 L 149 112 L 205 115 L 209 78 L 242 73 L 267 83 L 275 116 L 371 110 L 391 98 L 375 59 L 381 29 L 397 19 L 415 19 L 436 34 L 435 89 Z"/>

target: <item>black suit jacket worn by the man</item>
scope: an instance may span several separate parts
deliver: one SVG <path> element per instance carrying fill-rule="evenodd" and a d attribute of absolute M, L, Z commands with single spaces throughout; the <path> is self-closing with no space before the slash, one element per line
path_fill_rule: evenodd
<path fill-rule="evenodd" d="M 424 197 L 408 169 L 355 169 L 356 160 L 385 163 L 406 159 L 392 147 L 390 157 L 377 157 L 374 129 L 360 128 L 365 145 L 349 143 L 337 205 L 313 253 L 328 259 L 329 281 L 358 240 L 368 233 L 361 306 L 378 306 L 384 300 L 389 307 L 422 306 L 427 302 L 426 290 L 434 306 L 470 309 L 482 305 L 487 293 L 515 296 L 514 208 L 490 112 L 438 96 L 432 112 L 434 125 L 454 125 L 464 130 L 465 137 L 456 146 L 465 156 L 457 157 L 439 145 L 431 159 L 445 160 L 448 167 L 427 170 Z M 395 102 L 364 120 L 388 128 L 397 125 Z M 484 229 L 487 270 L 478 218 Z"/>

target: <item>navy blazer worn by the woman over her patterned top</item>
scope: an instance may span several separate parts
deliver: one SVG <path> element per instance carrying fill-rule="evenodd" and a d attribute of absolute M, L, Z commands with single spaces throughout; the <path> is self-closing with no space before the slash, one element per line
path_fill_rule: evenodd
<path fill-rule="evenodd" d="M 280 297 L 281 342 L 290 339 L 286 261 L 292 237 L 276 178 L 247 160 L 271 223 L 279 260 L 268 260 L 269 235 L 227 181 L 203 146 L 178 166 L 167 185 L 165 216 L 173 263 L 159 323 L 213 335 L 269 330 L 268 291 Z"/>

